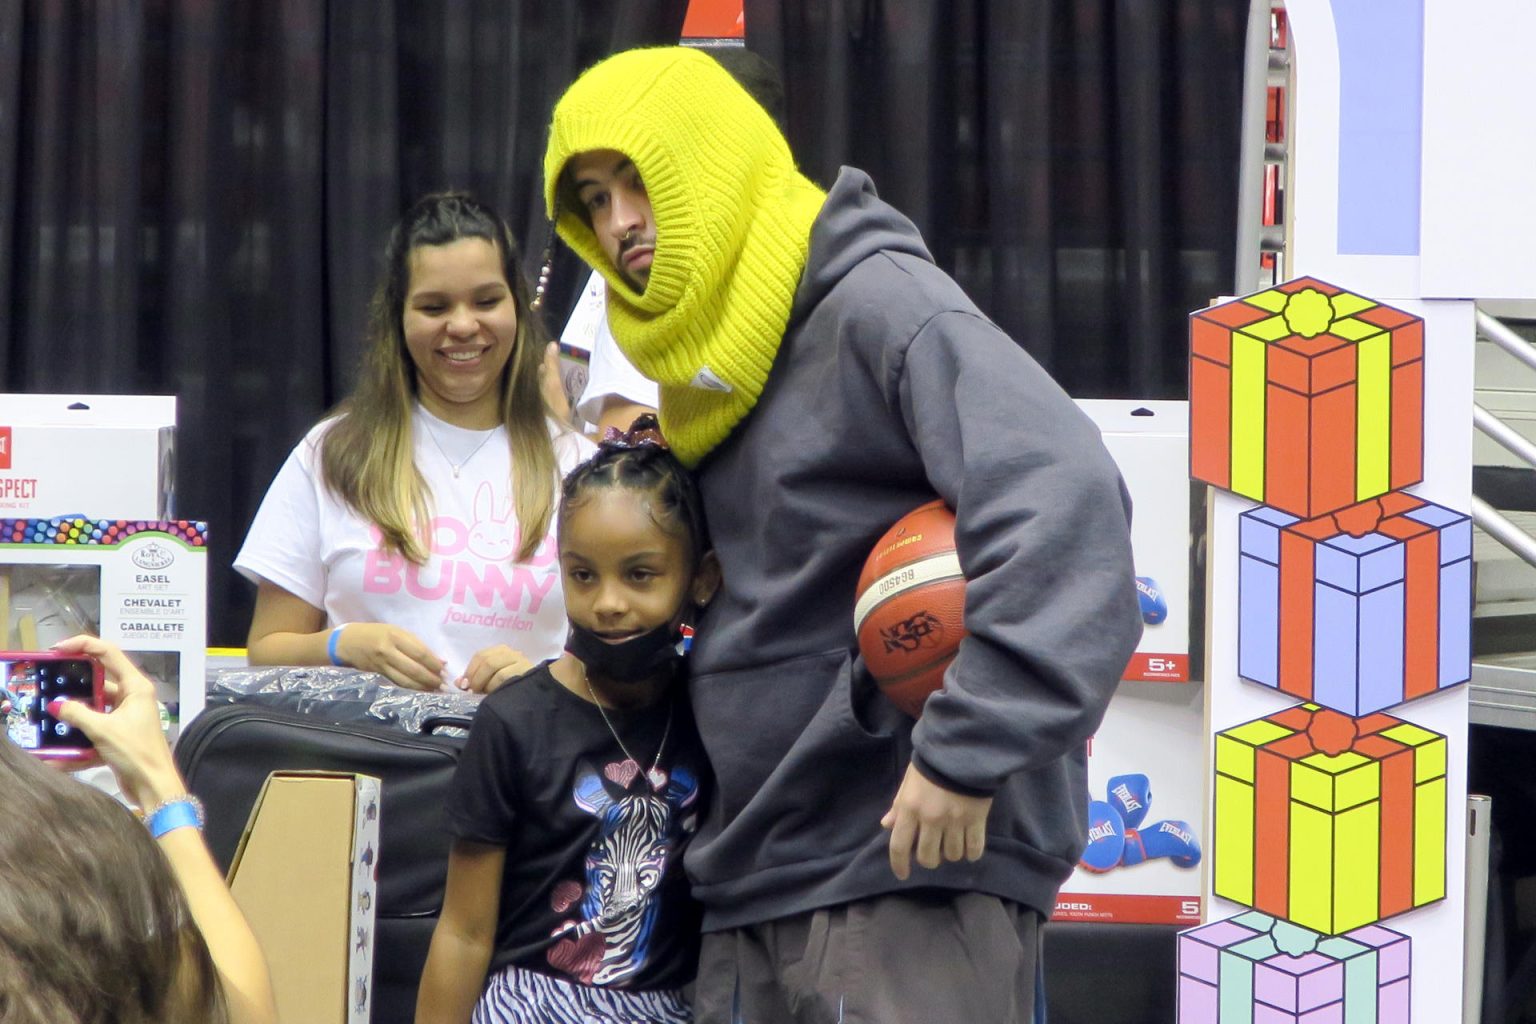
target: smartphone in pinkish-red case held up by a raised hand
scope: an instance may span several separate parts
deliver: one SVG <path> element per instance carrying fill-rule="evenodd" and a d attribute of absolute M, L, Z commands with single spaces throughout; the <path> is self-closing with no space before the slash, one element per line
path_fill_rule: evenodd
<path fill-rule="evenodd" d="M 45 760 L 95 761 L 91 737 L 54 717 L 60 699 L 104 711 L 100 662 L 57 651 L 0 651 L 0 720 L 9 740 Z"/>

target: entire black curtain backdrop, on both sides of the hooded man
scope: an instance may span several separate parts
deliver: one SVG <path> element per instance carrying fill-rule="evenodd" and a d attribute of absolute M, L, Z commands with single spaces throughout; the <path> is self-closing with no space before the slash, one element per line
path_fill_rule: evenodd
<path fill-rule="evenodd" d="M 390 223 L 472 189 L 531 270 L 554 98 L 676 40 L 685 9 L 0 0 L 0 391 L 178 396 L 210 643 L 244 643 L 253 588 L 229 563 L 352 382 Z M 746 0 L 746 32 L 813 178 L 868 170 L 1074 395 L 1181 398 L 1184 313 L 1232 287 L 1244 11 Z M 562 253 L 556 293 L 582 278 Z"/>

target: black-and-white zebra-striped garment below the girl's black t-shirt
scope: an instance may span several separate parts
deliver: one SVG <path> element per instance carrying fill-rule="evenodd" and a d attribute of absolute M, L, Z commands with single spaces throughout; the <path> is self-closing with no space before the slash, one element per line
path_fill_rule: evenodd
<path fill-rule="evenodd" d="M 470 1024 L 693 1024 L 693 1009 L 676 989 L 599 989 L 510 964 L 492 975 Z"/>

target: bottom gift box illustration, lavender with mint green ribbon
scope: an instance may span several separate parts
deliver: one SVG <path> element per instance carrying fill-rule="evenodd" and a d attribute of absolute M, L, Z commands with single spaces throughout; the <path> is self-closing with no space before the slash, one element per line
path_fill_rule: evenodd
<path fill-rule="evenodd" d="M 1412 943 L 1249 912 L 1178 936 L 1178 1024 L 1409 1024 Z"/>

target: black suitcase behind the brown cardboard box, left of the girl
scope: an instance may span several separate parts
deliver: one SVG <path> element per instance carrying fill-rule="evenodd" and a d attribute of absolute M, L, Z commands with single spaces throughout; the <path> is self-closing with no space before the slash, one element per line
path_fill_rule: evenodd
<path fill-rule="evenodd" d="M 467 728 L 439 718 L 425 728 Z M 447 794 L 462 737 L 338 723 L 255 703 L 214 705 L 177 742 L 175 760 L 207 811 L 207 844 L 227 874 L 261 785 L 273 771 L 375 775 L 379 785 L 372 1024 L 410 1024 L 449 870 Z M 295 866 L 295 870 L 301 869 Z"/>

